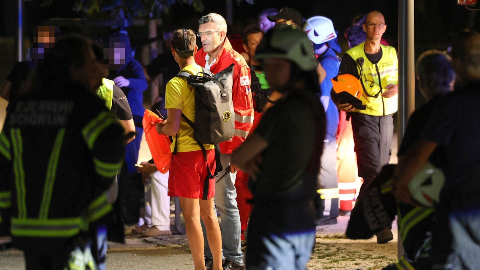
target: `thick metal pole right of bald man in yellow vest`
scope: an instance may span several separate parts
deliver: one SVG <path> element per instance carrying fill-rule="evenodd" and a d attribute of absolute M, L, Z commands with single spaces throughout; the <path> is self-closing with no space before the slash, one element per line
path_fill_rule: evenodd
<path fill-rule="evenodd" d="M 398 2 L 398 147 L 407 120 L 415 110 L 415 12 L 414 0 Z M 402 237 L 398 231 L 398 258 L 403 256 Z"/>

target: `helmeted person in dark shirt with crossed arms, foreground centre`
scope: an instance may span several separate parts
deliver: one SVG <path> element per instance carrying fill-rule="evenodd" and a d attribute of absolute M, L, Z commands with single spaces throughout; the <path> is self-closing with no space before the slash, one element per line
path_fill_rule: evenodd
<path fill-rule="evenodd" d="M 315 242 L 314 201 L 325 134 L 312 42 L 297 25 L 275 25 L 255 55 L 281 94 L 232 154 L 250 175 L 253 209 L 246 268 L 305 269 Z"/>

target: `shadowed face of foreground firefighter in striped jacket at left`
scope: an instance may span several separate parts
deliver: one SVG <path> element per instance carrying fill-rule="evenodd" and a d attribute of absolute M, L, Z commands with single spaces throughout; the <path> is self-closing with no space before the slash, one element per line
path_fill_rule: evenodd
<path fill-rule="evenodd" d="M 108 75 L 102 63 L 96 59 L 92 49 L 88 48 L 84 52 L 85 63 L 83 67 L 72 68 L 72 79 L 83 86 L 88 87 L 91 92 L 95 92 L 102 85 L 103 77 Z"/>

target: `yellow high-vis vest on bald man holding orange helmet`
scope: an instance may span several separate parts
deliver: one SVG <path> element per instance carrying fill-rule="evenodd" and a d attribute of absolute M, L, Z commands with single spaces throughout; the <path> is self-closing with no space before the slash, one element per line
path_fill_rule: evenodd
<path fill-rule="evenodd" d="M 382 58 L 373 64 L 368 60 L 365 50 L 365 42 L 349 49 L 346 53 L 357 62 L 358 73 L 361 74 L 360 82 L 366 93 L 360 100 L 366 105 L 365 110 L 355 110 L 368 115 L 388 115 L 397 111 L 398 95 L 391 98 L 382 98 L 386 86 L 398 85 L 398 58 L 395 48 L 380 45 Z M 358 59 L 363 58 L 363 67 L 360 68 Z M 377 95 L 378 94 L 378 95 Z M 376 97 L 375 97 L 376 96 Z"/>

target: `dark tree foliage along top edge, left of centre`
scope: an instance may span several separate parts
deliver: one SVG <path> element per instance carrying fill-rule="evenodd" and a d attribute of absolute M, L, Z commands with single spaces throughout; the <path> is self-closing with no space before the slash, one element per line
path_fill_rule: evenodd
<path fill-rule="evenodd" d="M 48 6 L 54 1 L 64 0 L 43 0 L 42 5 Z M 72 9 L 92 18 L 160 18 L 161 13 L 168 12 L 175 3 L 190 5 L 198 12 L 204 11 L 202 0 L 74 0 Z"/>

